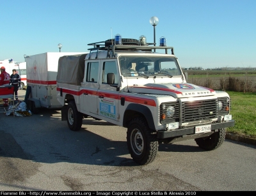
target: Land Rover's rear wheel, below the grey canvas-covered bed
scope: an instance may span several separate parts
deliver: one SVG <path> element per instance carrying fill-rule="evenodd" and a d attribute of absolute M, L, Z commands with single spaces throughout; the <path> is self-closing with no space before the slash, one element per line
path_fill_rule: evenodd
<path fill-rule="evenodd" d="M 78 112 L 75 101 L 70 101 L 67 107 L 67 122 L 70 130 L 76 132 L 83 124 L 83 114 Z"/>

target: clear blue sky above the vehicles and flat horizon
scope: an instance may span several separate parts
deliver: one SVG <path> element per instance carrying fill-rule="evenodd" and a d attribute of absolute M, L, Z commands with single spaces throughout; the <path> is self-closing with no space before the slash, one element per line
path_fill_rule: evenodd
<path fill-rule="evenodd" d="M 183 68 L 256 67 L 256 0 L 0 0 L 0 60 L 88 52 L 115 34 L 164 36 Z M 111 33 L 112 32 L 112 33 Z"/>

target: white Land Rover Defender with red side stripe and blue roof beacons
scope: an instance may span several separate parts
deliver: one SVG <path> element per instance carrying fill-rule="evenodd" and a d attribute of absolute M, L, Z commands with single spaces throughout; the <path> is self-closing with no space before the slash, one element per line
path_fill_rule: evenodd
<path fill-rule="evenodd" d="M 235 124 L 230 97 L 188 84 L 173 47 L 165 43 L 118 35 L 88 44 L 88 54 L 60 57 L 57 99 L 70 130 L 79 130 L 88 116 L 123 126 L 131 157 L 140 165 L 156 158 L 161 143 L 195 139 L 202 149 L 219 147 L 225 128 Z"/>

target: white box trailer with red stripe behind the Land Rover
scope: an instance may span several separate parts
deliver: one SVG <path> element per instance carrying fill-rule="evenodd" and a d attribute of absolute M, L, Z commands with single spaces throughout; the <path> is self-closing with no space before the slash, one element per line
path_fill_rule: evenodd
<path fill-rule="evenodd" d="M 27 90 L 24 102 L 31 112 L 37 114 L 42 107 L 61 109 L 56 91 L 58 61 L 61 56 L 76 54 L 85 52 L 45 52 L 26 58 Z"/>

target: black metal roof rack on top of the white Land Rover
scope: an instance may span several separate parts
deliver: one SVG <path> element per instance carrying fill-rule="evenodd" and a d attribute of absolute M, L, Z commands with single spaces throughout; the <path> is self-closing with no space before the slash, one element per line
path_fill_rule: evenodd
<path fill-rule="evenodd" d="M 98 56 L 99 50 L 108 50 L 107 57 L 110 57 L 110 51 L 112 51 L 112 57 L 115 56 L 116 50 L 130 50 L 130 51 L 151 51 L 154 49 L 164 49 L 165 54 L 168 54 L 168 49 L 171 49 L 172 54 L 174 55 L 173 47 L 160 47 L 160 46 L 150 46 L 154 45 L 154 43 L 147 43 L 147 45 L 140 45 L 140 42 L 135 39 L 122 39 L 122 45 L 115 44 L 113 39 L 106 40 L 106 41 L 99 41 L 94 43 L 88 43 L 88 45 L 93 45 L 93 48 L 88 49 L 90 50 L 89 59 L 91 56 L 91 52 L 97 50 L 96 59 Z"/>

